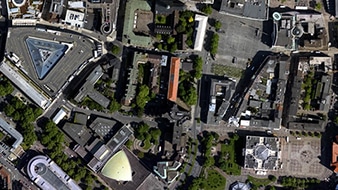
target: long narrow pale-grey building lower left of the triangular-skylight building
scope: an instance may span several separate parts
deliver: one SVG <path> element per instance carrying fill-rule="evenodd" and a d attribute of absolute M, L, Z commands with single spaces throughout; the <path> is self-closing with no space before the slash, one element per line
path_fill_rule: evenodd
<path fill-rule="evenodd" d="M 38 89 L 37 85 L 33 86 L 32 81 L 27 82 L 26 78 L 17 69 L 9 65 L 9 63 L 0 63 L 0 71 L 39 107 L 47 109 L 50 106 L 51 98 L 42 93 L 43 91 Z"/>

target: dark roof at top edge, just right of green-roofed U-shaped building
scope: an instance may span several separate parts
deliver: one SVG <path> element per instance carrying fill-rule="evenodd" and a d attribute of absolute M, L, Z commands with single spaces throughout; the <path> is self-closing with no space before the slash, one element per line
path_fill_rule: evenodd
<path fill-rule="evenodd" d="M 173 11 L 184 11 L 185 4 L 179 0 L 156 0 L 156 14 L 171 14 Z"/>

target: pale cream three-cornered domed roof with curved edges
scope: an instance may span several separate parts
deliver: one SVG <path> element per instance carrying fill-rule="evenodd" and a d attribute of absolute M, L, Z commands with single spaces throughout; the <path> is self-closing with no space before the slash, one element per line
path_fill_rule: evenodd
<path fill-rule="evenodd" d="M 126 153 L 121 150 L 114 154 L 102 168 L 102 174 L 116 181 L 131 181 L 132 171 Z"/>

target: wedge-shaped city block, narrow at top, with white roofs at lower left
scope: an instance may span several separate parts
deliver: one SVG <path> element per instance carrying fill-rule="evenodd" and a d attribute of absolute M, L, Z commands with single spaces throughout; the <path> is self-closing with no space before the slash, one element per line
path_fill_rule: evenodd
<path fill-rule="evenodd" d="M 266 58 L 263 68 L 245 96 L 248 104 L 245 111 L 241 113 L 241 127 L 280 129 L 289 63 L 290 59 L 285 55 Z"/>

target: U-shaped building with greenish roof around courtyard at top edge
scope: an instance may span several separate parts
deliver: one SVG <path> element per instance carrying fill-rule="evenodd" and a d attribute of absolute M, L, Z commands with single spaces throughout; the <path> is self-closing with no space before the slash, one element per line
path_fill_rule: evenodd
<path fill-rule="evenodd" d="M 145 16 L 139 18 L 139 14 Z M 124 14 L 122 42 L 126 45 L 139 47 L 152 46 L 152 39 L 148 34 L 139 35 L 136 30 L 142 33 L 148 33 L 148 26 L 153 22 L 151 3 L 146 0 L 129 0 L 126 2 Z"/>

